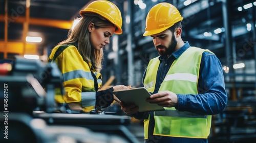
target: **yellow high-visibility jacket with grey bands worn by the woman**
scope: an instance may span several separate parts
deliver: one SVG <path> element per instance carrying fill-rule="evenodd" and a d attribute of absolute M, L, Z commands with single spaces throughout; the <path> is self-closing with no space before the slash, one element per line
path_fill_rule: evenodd
<path fill-rule="evenodd" d="M 84 112 L 95 108 L 95 86 L 102 84 L 101 74 L 91 70 L 91 63 L 83 60 L 74 45 L 60 45 L 54 47 L 48 62 L 55 62 L 63 76 L 65 94 L 55 90 L 57 103 L 79 103 Z M 96 84 L 96 85 L 95 85 Z M 67 85 L 67 86 L 66 86 Z M 72 85 L 72 86 L 70 86 Z M 86 99 L 82 101 L 82 98 Z"/>

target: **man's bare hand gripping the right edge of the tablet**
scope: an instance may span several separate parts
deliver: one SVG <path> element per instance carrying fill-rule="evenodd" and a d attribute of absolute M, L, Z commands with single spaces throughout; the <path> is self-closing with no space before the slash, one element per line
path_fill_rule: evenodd
<path fill-rule="evenodd" d="M 177 94 L 171 91 L 160 91 L 153 94 L 146 100 L 149 103 L 155 103 L 163 107 L 174 107 L 178 105 Z"/>

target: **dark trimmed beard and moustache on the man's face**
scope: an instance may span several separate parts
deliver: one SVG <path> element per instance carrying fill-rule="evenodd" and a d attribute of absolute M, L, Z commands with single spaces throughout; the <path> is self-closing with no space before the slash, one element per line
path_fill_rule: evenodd
<path fill-rule="evenodd" d="M 161 51 L 158 50 L 157 52 L 161 56 L 169 56 L 169 55 L 171 55 L 174 52 L 174 50 L 176 48 L 176 45 L 177 45 L 177 42 L 178 41 L 176 40 L 175 35 L 173 33 L 173 37 L 172 37 L 172 40 L 169 43 L 169 46 L 165 47 L 163 45 L 159 45 L 159 46 L 157 46 L 157 49 L 158 48 L 164 48 L 165 50 L 161 50 Z"/>

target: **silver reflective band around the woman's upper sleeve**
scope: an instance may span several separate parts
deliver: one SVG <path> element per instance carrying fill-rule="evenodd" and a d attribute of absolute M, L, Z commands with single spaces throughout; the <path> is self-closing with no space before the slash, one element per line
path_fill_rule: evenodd
<path fill-rule="evenodd" d="M 85 78 L 87 80 L 93 80 L 91 71 L 83 71 L 83 70 L 73 70 L 68 73 L 63 74 L 64 81 L 76 79 L 76 78 Z"/>

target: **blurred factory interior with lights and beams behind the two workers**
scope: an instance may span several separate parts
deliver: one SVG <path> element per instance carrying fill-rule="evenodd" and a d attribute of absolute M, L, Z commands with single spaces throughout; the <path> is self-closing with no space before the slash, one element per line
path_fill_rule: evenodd
<path fill-rule="evenodd" d="M 53 47 L 67 38 L 75 19 L 80 17 L 79 11 L 91 2 L 0 0 L 0 64 L 11 63 L 15 56 L 46 62 Z M 152 38 L 142 36 L 147 12 L 157 3 L 173 4 L 184 17 L 182 39 L 214 52 L 223 65 L 228 105 L 222 113 L 213 116 L 209 142 L 256 139 L 255 0 L 111 2 L 122 13 L 123 34 L 113 35 L 111 44 L 104 47 L 103 84 L 142 86 L 148 62 L 158 56 Z M 132 132 L 142 140 L 141 121 L 131 120 Z"/>

